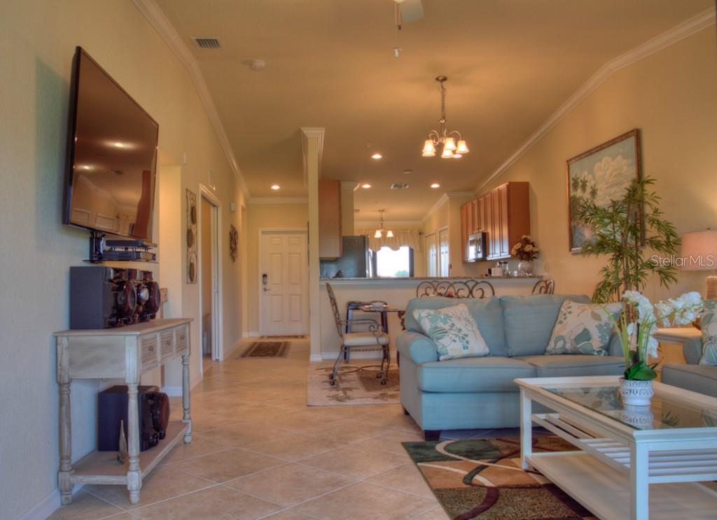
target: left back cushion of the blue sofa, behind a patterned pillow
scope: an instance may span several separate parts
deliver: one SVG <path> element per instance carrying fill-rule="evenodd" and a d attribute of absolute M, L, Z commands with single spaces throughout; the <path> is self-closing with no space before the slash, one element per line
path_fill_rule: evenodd
<path fill-rule="evenodd" d="M 413 311 L 415 309 L 435 310 L 461 303 L 465 304 L 475 323 L 478 323 L 478 330 L 483 335 L 485 343 L 488 344 L 490 355 L 508 355 L 508 349 L 505 346 L 505 331 L 503 330 L 503 308 L 500 306 L 500 298 L 497 296 L 483 299 L 444 298 L 442 296 L 413 298 L 406 308 L 404 322 L 406 330 L 423 333 L 421 325 L 414 318 Z"/>

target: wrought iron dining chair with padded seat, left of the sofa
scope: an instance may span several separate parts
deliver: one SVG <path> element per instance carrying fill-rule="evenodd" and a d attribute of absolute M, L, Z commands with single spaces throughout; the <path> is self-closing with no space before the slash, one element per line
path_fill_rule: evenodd
<path fill-rule="evenodd" d="M 378 368 L 376 378 L 381 380 L 381 384 L 385 385 L 389 380 L 389 367 L 391 366 L 391 354 L 389 352 L 389 335 L 379 325 L 379 322 L 371 318 L 359 318 L 351 320 L 342 320 L 338 311 L 336 296 L 333 294 L 331 284 L 326 284 L 328 298 L 331 300 L 331 309 L 333 310 L 333 318 L 336 320 L 336 331 L 338 332 L 339 353 L 336 361 L 333 363 L 333 371 L 329 374 L 331 386 L 336 385 L 336 378 L 342 373 L 351 373 L 364 370 L 366 368 Z M 347 325 L 367 325 L 369 330 L 364 332 L 345 332 L 344 327 Z M 352 351 L 367 352 L 372 350 L 381 351 L 381 365 L 365 365 L 365 366 L 341 366 L 341 361 L 347 359 Z"/>

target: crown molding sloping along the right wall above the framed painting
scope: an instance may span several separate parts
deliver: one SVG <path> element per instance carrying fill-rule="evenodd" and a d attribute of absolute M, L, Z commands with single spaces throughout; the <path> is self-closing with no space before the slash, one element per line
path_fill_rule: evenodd
<path fill-rule="evenodd" d="M 508 170 L 514 162 L 520 159 L 523 154 L 528 152 L 534 144 L 540 141 L 545 135 L 553 129 L 559 122 L 565 119 L 575 107 L 577 107 L 585 98 L 592 94 L 606 79 L 612 76 L 615 72 L 619 71 L 631 65 L 635 62 L 640 61 L 643 58 L 654 54 L 657 51 L 665 49 L 670 45 L 677 43 L 678 41 L 695 34 L 698 31 L 706 29 L 707 27 L 714 25 L 715 20 L 715 8 L 712 7 L 703 11 L 701 14 L 693 16 L 690 19 L 683 21 L 681 24 L 674 26 L 672 29 L 658 34 L 652 39 L 645 41 L 645 43 L 638 45 L 634 49 L 620 54 L 617 58 L 614 58 L 600 67 L 595 74 L 590 77 L 584 84 L 577 89 L 574 94 L 571 95 L 561 106 L 544 122 L 531 137 L 528 137 L 526 142 L 523 142 L 518 149 L 508 157 L 508 160 L 503 162 L 493 173 L 491 173 L 483 182 L 478 185 L 476 192 L 481 188 L 485 187 L 491 181 L 495 180 L 496 177 L 500 176 Z"/>

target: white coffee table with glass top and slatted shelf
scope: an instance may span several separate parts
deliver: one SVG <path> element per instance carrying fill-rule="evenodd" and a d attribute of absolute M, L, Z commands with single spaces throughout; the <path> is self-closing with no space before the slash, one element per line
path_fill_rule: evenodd
<path fill-rule="evenodd" d="M 717 518 L 717 398 L 656 382 L 652 406 L 632 407 L 619 400 L 617 376 L 516 383 L 523 469 L 600 519 Z M 533 423 L 577 450 L 533 453 Z"/>

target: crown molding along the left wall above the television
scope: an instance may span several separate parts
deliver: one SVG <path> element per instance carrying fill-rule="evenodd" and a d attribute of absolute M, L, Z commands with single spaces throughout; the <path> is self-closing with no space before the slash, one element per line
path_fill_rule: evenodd
<path fill-rule="evenodd" d="M 237 182 L 239 182 L 239 189 L 244 192 L 247 198 L 250 197 L 249 187 L 247 187 L 247 182 L 244 180 L 242 171 L 239 170 L 237 159 L 234 157 L 234 150 L 232 150 L 232 145 L 229 144 L 227 132 L 224 131 L 222 119 L 219 118 L 219 112 L 217 112 L 217 107 L 214 105 L 212 94 L 209 94 L 209 88 L 204 81 L 204 74 L 201 74 L 199 62 L 196 61 L 194 54 L 191 54 L 189 47 L 184 43 L 184 39 L 182 39 L 180 34 L 174 29 L 171 21 L 169 21 L 155 0 L 133 1 L 137 9 L 145 16 L 162 39 L 166 41 L 166 44 L 174 51 L 176 57 L 179 58 L 181 64 L 183 64 L 189 72 L 189 77 L 191 77 L 191 81 L 194 83 L 196 94 L 199 96 L 201 104 L 204 105 L 206 116 L 209 117 L 209 122 L 217 134 L 219 145 L 224 150 L 224 155 L 227 156 L 229 167 L 232 169 L 232 172 L 234 172 L 234 177 L 237 179 Z"/>

